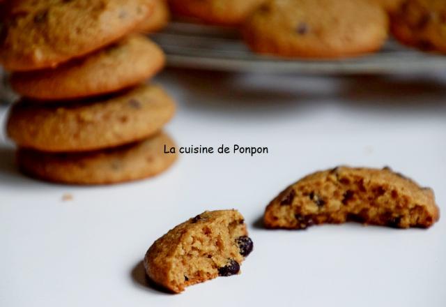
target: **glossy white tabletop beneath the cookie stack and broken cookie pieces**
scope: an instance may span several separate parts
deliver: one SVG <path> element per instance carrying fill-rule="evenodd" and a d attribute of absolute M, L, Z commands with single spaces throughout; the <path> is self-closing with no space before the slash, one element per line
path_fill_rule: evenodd
<path fill-rule="evenodd" d="M 288 184 L 339 164 L 390 165 L 431 186 L 445 211 L 446 78 L 167 70 L 156 81 L 178 100 L 166 129 L 181 146 L 270 153 L 180 156 L 154 179 L 86 188 L 23 177 L 3 136 L 0 306 L 446 306 L 443 218 L 429 230 L 256 223 Z M 141 259 L 155 239 L 228 208 L 254 240 L 242 274 L 178 295 L 145 285 Z"/>

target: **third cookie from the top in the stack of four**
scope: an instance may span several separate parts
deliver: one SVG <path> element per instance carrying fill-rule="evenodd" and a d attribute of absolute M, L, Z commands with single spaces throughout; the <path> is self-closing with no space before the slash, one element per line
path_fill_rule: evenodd
<path fill-rule="evenodd" d="M 89 103 L 12 107 L 7 130 L 19 147 L 39 151 L 91 151 L 154 135 L 174 115 L 175 104 L 163 89 L 141 85 L 118 96 Z"/>

